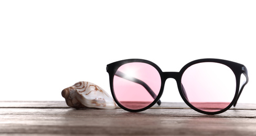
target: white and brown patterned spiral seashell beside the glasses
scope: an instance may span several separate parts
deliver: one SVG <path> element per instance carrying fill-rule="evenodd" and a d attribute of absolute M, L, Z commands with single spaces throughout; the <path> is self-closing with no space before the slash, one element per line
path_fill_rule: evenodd
<path fill-rule="evenodd" d="M 61 95 L 69 107 L 82 108 L 116 108 L 113 98 L 101 87 L 90 82 L 78 82 L 62 90 Z"/>

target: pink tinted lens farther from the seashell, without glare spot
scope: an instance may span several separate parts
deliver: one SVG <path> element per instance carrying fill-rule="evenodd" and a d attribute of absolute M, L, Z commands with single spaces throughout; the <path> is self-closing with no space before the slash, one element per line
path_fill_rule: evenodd
<path fill-rule="evenodd" d="M 188 67 L 182 76 L 182 85 L 189 103 L 208 112 L 225 109 L 236 93 L 236 77 L 232 70 L 214 62 Z"/>

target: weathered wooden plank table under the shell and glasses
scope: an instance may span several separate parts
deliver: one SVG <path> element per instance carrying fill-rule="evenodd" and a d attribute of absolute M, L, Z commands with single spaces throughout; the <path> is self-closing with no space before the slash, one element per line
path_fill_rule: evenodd
<path fill-rule="evenodd" d="M 0 101 L 0 135 L 256 135 L 256 104 L 212 116 L 183 103 L 133 113 L 75 110 L 65 101 Z"/>

